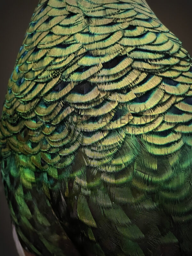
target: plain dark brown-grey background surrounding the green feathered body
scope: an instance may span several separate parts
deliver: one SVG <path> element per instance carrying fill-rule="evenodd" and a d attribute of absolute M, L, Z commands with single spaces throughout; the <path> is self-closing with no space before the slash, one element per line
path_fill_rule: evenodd
<path fill-rule="evenodd" d="M 104 0 L 103 0 L 104 1 Z M 163 24 L 183 42 L 192 56 L 192 1 L 147 0 Z M 0 8 L 0 114 L 17 53 L 38 0 L 1 1 Z M 0 255 L 17 256 L 12 239 L 11 221 L 0 180 Z"/>

